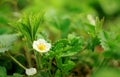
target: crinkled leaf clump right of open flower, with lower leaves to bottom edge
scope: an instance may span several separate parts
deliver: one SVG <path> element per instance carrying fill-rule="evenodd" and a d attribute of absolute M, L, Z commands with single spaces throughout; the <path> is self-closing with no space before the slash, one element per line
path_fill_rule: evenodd
<path fill-rule="evenodd" d="M 83 38 L 70 34 L 67 39 L 62 39 L 54 43 L 49 55 L 53 55 L 52 57 L 53 59 L 55 58 L 58 68 L 55 77 L 69 75 L 70 70 L 75 66 L 70 57 L 83 49 L 83 42 Z"/>

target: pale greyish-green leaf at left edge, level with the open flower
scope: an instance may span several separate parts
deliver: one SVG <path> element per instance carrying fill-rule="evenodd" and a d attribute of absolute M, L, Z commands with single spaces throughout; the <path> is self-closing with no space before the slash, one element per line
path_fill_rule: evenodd
<path fill-rule="evenodd" d="M 12 44 L 17 40 L 17 34 L 0 35 L 0 53 L 11 49 Z"/>

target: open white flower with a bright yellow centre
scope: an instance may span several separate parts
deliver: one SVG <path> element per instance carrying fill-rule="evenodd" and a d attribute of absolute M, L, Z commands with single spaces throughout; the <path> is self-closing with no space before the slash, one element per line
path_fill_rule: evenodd
<path fill-rule="evenodd" d="M 38 52 L 48 52 L 51 48 L 51 44 L 47 43 L 44 39 L 39 39 L 33 42 L 33 48 Z"/>

